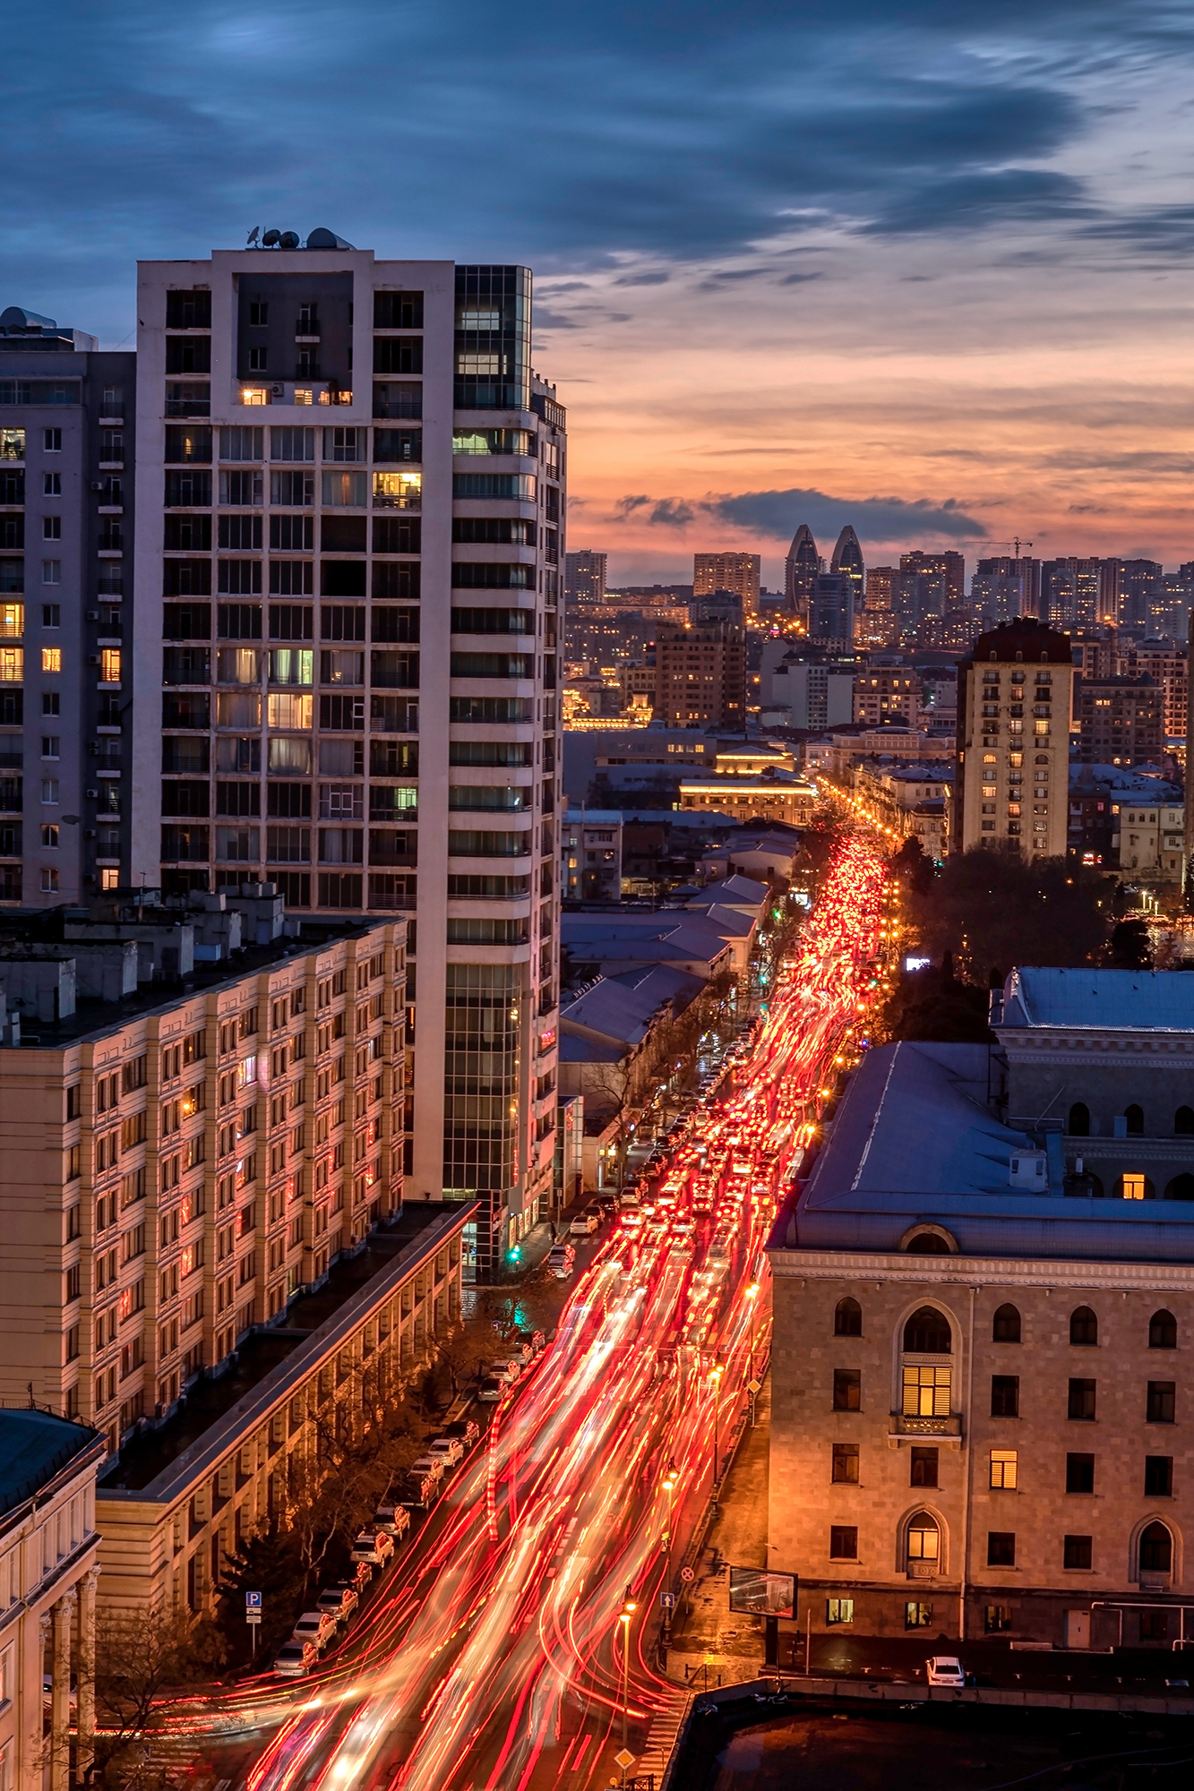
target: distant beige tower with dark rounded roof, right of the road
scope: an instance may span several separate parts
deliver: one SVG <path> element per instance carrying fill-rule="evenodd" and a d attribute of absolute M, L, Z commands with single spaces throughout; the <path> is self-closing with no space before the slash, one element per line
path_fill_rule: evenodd
<path fill-rule="evenodd" d="M 954 851 L 1065 856 L 1072 693 L 1069 636 L 1025 616 L 979 636 L 957 668 Z"/>

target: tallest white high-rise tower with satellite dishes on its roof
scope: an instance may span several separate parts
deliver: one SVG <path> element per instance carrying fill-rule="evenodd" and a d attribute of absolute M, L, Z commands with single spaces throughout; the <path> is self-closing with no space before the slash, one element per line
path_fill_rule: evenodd
<path fill-rule="evenodd" d="M 411 919 L 407 1198 L 488 1273 L 552 1184 L 565 412 L 529 269 L 264 242 L 140 267 L 133 883 Z"/>

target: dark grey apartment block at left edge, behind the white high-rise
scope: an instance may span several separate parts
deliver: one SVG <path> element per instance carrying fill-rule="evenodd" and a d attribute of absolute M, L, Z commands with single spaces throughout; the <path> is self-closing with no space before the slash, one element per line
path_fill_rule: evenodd
<path fill-rule="evenodd" d="M 0 313 L 0 906 L 127 869 L 134 367 Z"/>

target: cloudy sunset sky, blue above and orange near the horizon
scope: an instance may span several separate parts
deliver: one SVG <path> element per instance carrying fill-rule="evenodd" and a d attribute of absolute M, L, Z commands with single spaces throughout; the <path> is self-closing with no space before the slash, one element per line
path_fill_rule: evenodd
<path fill-rule="evenodd" d="M 326 224 L 529 261 L 572 546 L 852 521 L 1194 557 L 1194 0 L 63 0 L 5 23 L 2 303 Z"/>

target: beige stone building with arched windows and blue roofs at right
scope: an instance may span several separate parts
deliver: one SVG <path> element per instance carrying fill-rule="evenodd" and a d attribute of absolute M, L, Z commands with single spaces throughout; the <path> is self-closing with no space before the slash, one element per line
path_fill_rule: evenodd
<path fill-rule="evenodd" d="M 1022 971 L 1002 1050 L 857 1071 L 771 1250 L 769 1565 L 814 1632 L 1194 1637 L 1183 983 Z"/>

